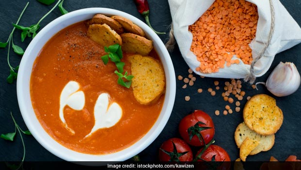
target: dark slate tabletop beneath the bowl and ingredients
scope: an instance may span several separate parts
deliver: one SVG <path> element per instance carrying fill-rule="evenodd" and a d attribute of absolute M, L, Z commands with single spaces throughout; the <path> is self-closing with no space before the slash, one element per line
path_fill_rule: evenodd
<path fill-rule="evenodd" d="M 51 6 L 40 4 L 36 0 L 29 0 L 30 4 L 21 18 L 21 25 L 35 24 L 44 14 L 48 12 Z M 301 0 L 281 0 L 286 9 L 292 15 L 292 17 L 301 25 Z M 12 22 L 17 21 L 17 17 L 22 11 L 27 1 L 25 0 L 0 0 L 0 41 L 6 41 L 11 30 Z M 151 14 L 150 19 L 152 26 L 157 31 L 168 31 L 168 25 L 171 23 L 171 17 L 169 13 L 169 6 L 167 0 L 150 0 Z M 77 9 L 88 7 L 105 7 L 113 8 L 126 13 L 129 13 L 141 20 L 144 20 L 142 16 L 137 12 L 134 2 L 132 0 L 65 0 L 64 6 L 68 11 L 74 11 Z M 58 9 L 55 9 L 48 17 L 41 22 L 41 27 L 44 27 L 47 23 L 61 16 Z M 16 31 L 14 34 L 15 44 L 26 48 L 30 42 L 30 38 L 27 38 L 24 43 L 20 42 L 20 32 Z M 167 35 L 160 35 L 163 42 L 166 42 Z M 268 70 L 268 72 L 257 79 L 257 81 L 266 81 L 272 68 L 274 68 L 280 61 L 293 62 L 297 66 L 299 72 L 301 72 L 300 62 L 301 44 L 281 52 L 276 55 L 275 60 Z M 16 94 L 16 82 L 12 85 L 6 83 L 6 77 L 9 75 L 9 67 L 7 65 L 7 48 L 0 49 L 0 133 L 8 133 L 14 131 L 14 124 L 10 117 L 10 112 L 13 112 L 17 123 L 22 129 L 26 129 L 26 125 L 21 117 Z M 175 50 L 170 53 L 172 58 L 176 76 L 182 75 L 188 76 L 188 66 L 184 63 L 184 60 L 180 54 L 179 48 L 176 46 Z M 14 54 L 11 51 L 10 62 L 13 66 L 17 66 L 21 60 L 21 57 Z M 158 148 L 163 141 L 171 137 L 179 137 L 178 123 L 187 114 L 195 109 L 201 109 L 212 116 L 215 126 L 216 144 L 223 147 L 229 154 L 232 160 L 235 160 L 239 156 L 239 150 L 236 148 L 234 142 L 234 131 L 236 126 L 243 121 L 242 113 L 234 112 L 232 115 L 227 116 L 215 116 L 215 110 L 224 110 L 224 106 L 227 104 L 223 101 L 221 95 L 222 90 L 217 91 L 217 95 L 212 97 L 206 89 L 214 87 L 213 82 L 218 80 L 220 87 L 225 81 L 229 79 L 216 79 L 216 78 L 204 78 L 201 79 L 197 76 L 195 85 L 188 86 L 183 89 L 184 83 L 177 80 L 177 93 L 176 101 L 170 119 L 167 122 L 166 127 L 157 137 L 157 139 L 151 143 L 151 145 L 139 153 L 142 160 L 157 160 Z M 202 88 L 203 93 L 198 94 L 197 89 Z M 266 93 L 271 95 L 264 86 L 259 86 L 259 90 L 253 90 L 251 86 L 244 84 L 243 89 L 247 92 L 247 95 L 254 95 L 260 93 Z M 189 102 L 184 101 L 184 96 L 190 95 L 191 100 Z M 301 122 L 301 90 L 300 88 L 296 93 L 288 97 L 278 98 L 276 97 L 277 104 L 284 112 L 284 122 L 281 129 L 276 134 L 276 140 L 274 147 L 268 152 L 262 152 L 254 156 L 249 156 L 247 160 L 263 160 L 266 161 L 271 155 L 275 156 L 279 160 L 285 160 L 290 155 L 298 155 L 301 158 L 301 135 L 300 135 L 300 122 Z M 245 104 L 246 99 L 241 102 L 242 106 Z M 231 104 L 234 109 L 234 104 Z M 146 113 L 147 114 L 147 113 Z M 56 161 L 61 160 L 55 155 L 45 150 L 32 136 L 24 136 L 26 144 L 26 161 Z M 0 139 L 0 161 L 18 161 L 21 160 L 23 155 L 23 149 L 19 136 L 16 136 L 14 142 L 5 141 Z M 198 148 L 194 148 L 197 151 Z"/>

